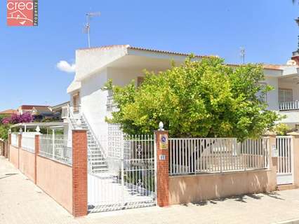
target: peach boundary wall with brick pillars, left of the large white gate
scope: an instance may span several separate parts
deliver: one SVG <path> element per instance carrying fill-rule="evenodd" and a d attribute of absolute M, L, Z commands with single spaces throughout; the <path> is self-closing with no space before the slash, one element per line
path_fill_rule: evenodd
<path fill-rule="evenodd" d="M 8 142 L 8 148 L 13 148 L 13 157 L 11 158 L 13 161 L 10 160 L 10 162 L 14 162 L 15 167 L 21 169 L 20 156 L 24 154 L 20 153 L 22 151 L 22 135 L 18 135 L 18 147 L 11 146 L 11 134 L 8 137 Z M 27 164 L 28 162 L 24 163 L 27 160 L 22 160 L 22 168 L 33 166 L 32 181 L 36 186 L 53 197 L 74 217 L 86 216 L 88 212 L 86 130 L 72 131 L 72 166 L 39 155 L 39 135 L 34 137 L 34 146 L 34 162 L 32 162 L 34 164 Z M 24 152 L 27 153 L 27 151 Z M 22 170 L 20 171 L 22 172 Z"/>

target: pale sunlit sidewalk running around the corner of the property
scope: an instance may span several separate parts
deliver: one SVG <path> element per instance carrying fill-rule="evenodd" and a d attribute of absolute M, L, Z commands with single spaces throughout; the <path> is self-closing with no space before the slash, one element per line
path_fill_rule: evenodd
<path fill-rule="evenodd" d="M 245 195 L 168 208 L 148 207 L 73 218 L 0 157 L 0 223 L 279 223 L 299 218 L 299 190 Z"/>

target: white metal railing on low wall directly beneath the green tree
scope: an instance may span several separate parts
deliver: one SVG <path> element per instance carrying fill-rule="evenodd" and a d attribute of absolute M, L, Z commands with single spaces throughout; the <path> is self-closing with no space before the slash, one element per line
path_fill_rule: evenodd
<path fill-rule="evenodd" d="M 268 167 L 268 138 L 171 138 L 169 174 L 201 174 L 246 171 Z"/>

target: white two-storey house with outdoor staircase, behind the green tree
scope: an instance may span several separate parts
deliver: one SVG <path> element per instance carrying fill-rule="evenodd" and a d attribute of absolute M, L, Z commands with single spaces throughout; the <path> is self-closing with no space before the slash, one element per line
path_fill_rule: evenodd
<path fill-rule="evenodd" d="M 77 71 L 73 82 L 67 88 L 70 106 L 65 108 L 63 118 L 71 126 L 81 120 L 88 128 L 88 138 L 97 142 L 100 135 L 108 133 L 105 117 L 115 109 L 111 95 L 102 90 L 107 80 L 114 85 L 126 85 L 135 80 L 142 81 L 143 70 L 163 71 L 171 68 L 171 62 L 182 64 L 188 54 L 135 48 L 130 45 L 109 45 L 100 48 L 79 49 L 76 52 Z M 196 55 L 194 59 L 208 56 Z M 293 58 L 296 59 L 296 58 Z M 291 65 L 264 65 L 265 81 L 274 90 L 264 96 L 269 109 L 287 116 L 282 122 L 299 127 L 299 73 L 295 61 Z M 236 66 L 236 65 L 232 65 Z M 96 145 L 96 144 L 95 144 Z"/>

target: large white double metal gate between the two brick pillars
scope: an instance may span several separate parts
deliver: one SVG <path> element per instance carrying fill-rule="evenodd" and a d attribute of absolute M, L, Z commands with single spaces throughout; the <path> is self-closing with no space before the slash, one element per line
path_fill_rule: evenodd
<path fill-rule="evenodd" d="M 109 132 L 99 141 L 106 151 L 107 170 L 88 174 L 88 210 L 155 205 L 154 137 Z"/>

